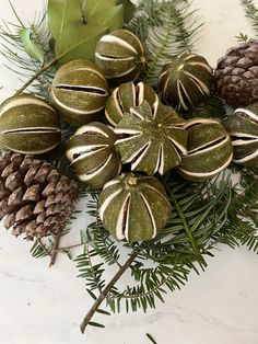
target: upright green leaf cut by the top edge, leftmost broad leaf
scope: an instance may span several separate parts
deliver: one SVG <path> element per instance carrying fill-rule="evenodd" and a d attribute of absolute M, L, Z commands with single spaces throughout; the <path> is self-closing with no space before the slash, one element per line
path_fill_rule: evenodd
<path fill-rule="evenodd" d="M 58 39 L 69 24 L 82 20 L 81 1 L 48 0 L 47 18 L 50 33 Z"/>

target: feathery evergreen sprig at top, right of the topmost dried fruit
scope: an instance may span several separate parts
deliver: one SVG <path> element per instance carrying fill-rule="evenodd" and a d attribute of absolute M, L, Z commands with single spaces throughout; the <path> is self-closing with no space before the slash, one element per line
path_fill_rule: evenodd
<path fill-rule="evenodd" d="M 192 50 L 202 23 L 187 0 L 141 1 L 130 30 L 145 42 L 148 66 L 144 81 L 157 85 L 162 67 L 184 51 Z"/>

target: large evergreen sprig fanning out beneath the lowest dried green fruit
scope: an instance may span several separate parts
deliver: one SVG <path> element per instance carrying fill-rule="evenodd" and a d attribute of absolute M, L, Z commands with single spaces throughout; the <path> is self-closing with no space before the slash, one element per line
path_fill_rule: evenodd
<path fill-rule="evenodd" d="M 191 271 L 199 274 L 199 268 L 206 268 L 206 256 L 212 255 L 226 222 L 231 202 L 228 174 L 221 173 L 220 181 L 214 179 L 198 184 L 169 173 L 163 182 L 174 210 L 167 227 L 149 242 L 117 242 L 99 221 L 97 197 L 91 200 L 89 215 L 95 218 L 86 230 L 91 249 L 85 249 L 77 262 L 80 276 L 85 278 L 87 293 L 95 302 L 104 300 L 102 290 L 108 285 L 105 275 L 108 266 L 115 264 L 118 272 L 124 268 L 121 250 L 129 256 L 136 255 L 128 266 L 130 285 L 109 285 L 106 305 L 113 312 L 155 308 L 157 300 L 164 301 L 164 294 L 186 284 Z"/>

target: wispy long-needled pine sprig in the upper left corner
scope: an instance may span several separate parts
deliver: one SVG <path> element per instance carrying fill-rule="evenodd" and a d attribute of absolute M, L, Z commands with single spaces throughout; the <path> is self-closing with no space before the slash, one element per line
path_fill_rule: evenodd
<path fill-rule="evenodd" d="M 20 32 L 27 28 L 31 34 L 31 42 L 44 51 L 44 65 L 52 59 L 52 51 L 49 45 L 50 34 L 46 25 L 46 9 L 44 8 L 33 22 L 23 23 L 15 9 L 11 4 L 16 23 L 5 23 L 0 27 L 1 50 L 0 54 L 8 61 L 4 65 L 12 72 L 17 74 L 17 79 L 25 83 L 27 79 L 35 76 L 40 70 L 42 61 L 35 59 L 25 53 L 24 42 Z M 55 74 L 55 68 L 48 68 L 45 72 L 38 74 L 35 82 L 28 88 L 33 94 L 44 99 L 49 98 L 49 87 Z"/>

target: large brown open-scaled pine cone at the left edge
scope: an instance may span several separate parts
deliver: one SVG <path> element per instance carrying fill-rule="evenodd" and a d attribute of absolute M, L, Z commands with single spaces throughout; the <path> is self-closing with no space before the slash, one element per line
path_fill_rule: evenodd
<path fill-rule="evenodd" d="M 0 219 L 14 236 L 59 233 L 77 195 L 73 183 L 48 162 L 20 153 L 0 157 Z"/>

